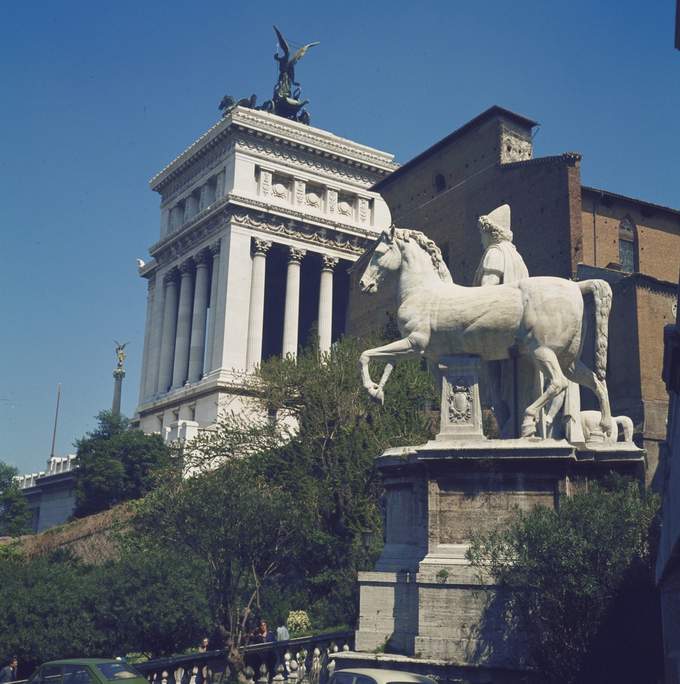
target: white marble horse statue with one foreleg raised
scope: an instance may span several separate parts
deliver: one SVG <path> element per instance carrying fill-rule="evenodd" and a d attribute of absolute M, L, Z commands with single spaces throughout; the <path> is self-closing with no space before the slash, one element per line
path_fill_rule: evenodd
<path fill-rule="evenodd" d="M 397 324 L 403 337 L 361 354 L 364 387 L 384 400 L 384 387 L 400 359 L 424 356 L 431 366 L 444 355 L 474 354 L 483 361 L 527 356 L 546 377 L 543 393 L 524 411 L 522 437 L 536 434 L 540 409 L 563 393 L 568 380 L 588 387 L 600 405 L 600 428 L 611 439 L 613 423 L 606 384 L 611 288 L 604 280 L 524 278 L 514 283 L 464 287 L 453 282 L 435 243 L 423 233 L 392 227 L 360 259 L 368 262 L 362 292 L 398 276 Z M 595 370 L 581 361 L 583 296 L 595 302 Z M 371 359 L 387 362 L 379 382 Z"/>

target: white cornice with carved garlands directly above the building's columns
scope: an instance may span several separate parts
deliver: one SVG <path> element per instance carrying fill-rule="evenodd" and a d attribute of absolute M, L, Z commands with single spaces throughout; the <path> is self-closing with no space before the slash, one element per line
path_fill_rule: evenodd
<path fill-rule="evenodd" d="M 354 258 L 378 236 L 358 226 L 343 225 L 325 217 L 310 217 L 304 212 L 230 194 L 198 214 L 181 231 L 167 236 L 150 248 L 158 265 L 174 261 L 217 233 L 232 221 L 263 233 L 299 240 L 311 247 L 326 247 Z"/>

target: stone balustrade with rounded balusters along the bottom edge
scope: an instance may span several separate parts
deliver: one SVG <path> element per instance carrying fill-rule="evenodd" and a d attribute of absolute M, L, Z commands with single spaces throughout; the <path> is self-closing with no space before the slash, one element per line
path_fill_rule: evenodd
<path fill-rule="evenodd" d="M 249 684 L 326 684 L 333 655 L 354 647 L 354 632 L 334 632 L 243 648 Z M 225 684 L 235 679 L 226 651 L 149 660 L 135 665 L 151 684 Z"/>

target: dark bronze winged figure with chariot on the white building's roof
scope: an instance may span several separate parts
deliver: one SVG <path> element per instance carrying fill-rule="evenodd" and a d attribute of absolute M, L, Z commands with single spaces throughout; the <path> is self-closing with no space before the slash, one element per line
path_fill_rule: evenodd
<path fill-rule="evenodd" d="M 307 54 L 307 51 L 319 45 L 318 42 L 307 43 L 303 45 L 292 57 L 290 54 L 290 47 L 288 42 L 283 37 L 281 31 L 274 26 L 274 32 L 279 41 L 279 47 L 282 54 L 276 53 L 274 59 L 279 65 L 279 78 L 274 86 L 274 96 L 271 100 L 263 102 L 260 107 L 256 107 L 255 103 L 257 97 L 251 95 L 249 98 L 242 98 L 236 100 L 231 95 L 225 95 L 219 104 L 219 109 L 222 116 L 227 116 L 234 107 L 248 107 L 250 109 L 262 109 L 272 114 L 277 114 L 286 119 L 299 121 L 300 123 L 308 124 L 310 121 L 309 112 L 304 106 L 309 100 L 302 100 L 302 89 L 300 84 L 295 80 L 295 65 Z"/>

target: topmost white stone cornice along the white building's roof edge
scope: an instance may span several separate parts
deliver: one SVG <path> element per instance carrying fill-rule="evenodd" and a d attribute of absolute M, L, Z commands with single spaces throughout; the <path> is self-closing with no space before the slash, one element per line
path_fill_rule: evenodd
<path fill-rule="evenodd" d="M 230 130 L 251 132 L 258 137 L 276 140 L 279 144 L 303 148 L 317 155 L 337 159 L 348 166 L 371 169 L 381 176 L 391 173 L 398 167 L 393 161 L 394 156 L 387 152 L 341 138 L 320 128 L 288 121 L 275 114 L 236 107 L 156 174 L 149 181 L 151 188 L 160 192 L 195 159 L 225 138 Z"/>

